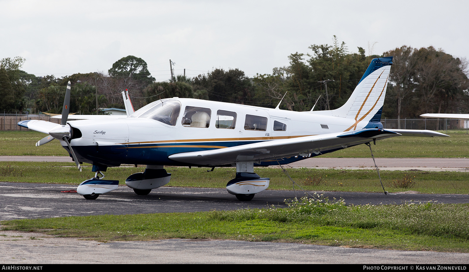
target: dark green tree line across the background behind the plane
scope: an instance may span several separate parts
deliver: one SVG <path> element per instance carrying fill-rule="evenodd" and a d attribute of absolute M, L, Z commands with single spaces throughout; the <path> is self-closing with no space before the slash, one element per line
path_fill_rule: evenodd
<path fill-rule="evenodd" d="M 271 74 L 247 77 L 239 69 L 214 69 L 194 78 L 174 76 L 155 82 L 146 62 L 127 56 L 107 73 L 35 77 L 20 70 L 24 59 L 0 63 L 0 110 L 60 113 L 63 87 L 72 83 L 70 110 L 90 113 L 98 107 L 123 108 L 121 91 L 129 89 L 136 109 L 168 97 L 189 97 L 274 108 L 307 111 L 336 109 L 350 94 L 375 57 L 393 56 L 382 118 L 415 118 L 423 113 L 468 113 L 468 62 L 442 49 L 402 46 L 381 55 L 367 55 L 362 47 L 349 53 L 345 42 L 311 45 L 306 54 L 288 56 L 289 65 Z"/>

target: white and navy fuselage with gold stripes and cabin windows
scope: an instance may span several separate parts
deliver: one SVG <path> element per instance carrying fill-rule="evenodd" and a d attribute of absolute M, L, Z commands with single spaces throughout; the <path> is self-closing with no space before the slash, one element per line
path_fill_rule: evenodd
<path fill-rule="evenodd" d="M 164 105 L 169 101 L 180 103 L 180 112 L 177 118 L 174 118 L 173 113 L 172 124 L 165 124 L 151 117 L 141 117 L 145 112 L 151 112 L 151 107 L 161 102 Z M 196 122 L 196 117 L 201 114 L 191 117 L 187 109 L 192 109 L 192 112 L 206 112 L 203 117 L 207 125 Z M 354 125 L 356 120 L 334 117 L 331 111 L 295 112 L 173 98 L 155 101 L 124 119 L 105 122 L 78 120 L 68 123 L 81 132 L 80 138 L 74 136 L 75 139 L 71 140 L 80 161 L 115 166 L 120 163 L 173 165 L 167 157 L 176 153 L 342 132 Z M 230 123 L 228 128 L 227 123 Z M 368 121 L 362 123 L 359 124 L 360 129 Z M 174 165 L 180 164 L 174 162 Z"/>

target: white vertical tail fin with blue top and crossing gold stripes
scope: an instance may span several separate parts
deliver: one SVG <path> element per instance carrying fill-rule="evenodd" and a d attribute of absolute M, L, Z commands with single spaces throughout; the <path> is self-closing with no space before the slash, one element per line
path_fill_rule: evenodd
<path fill-rule="evenodd" d="M 392 60 L 393 57 L 373 59 L 348 101 L 339 109 L 331 110 L 333 116 L 355 119 L 355 124 L 345 131 L 382 127 L 379 121 Z"/>

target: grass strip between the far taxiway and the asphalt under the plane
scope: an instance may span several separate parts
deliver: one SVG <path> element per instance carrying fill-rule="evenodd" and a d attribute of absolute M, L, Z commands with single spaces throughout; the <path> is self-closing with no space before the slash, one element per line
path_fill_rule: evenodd
<path fill-rule="evenodd" d="M 105 172 L 106 179 L 116 179 L 125 184 L 125 179 L 133 173 L 144 171 L 144 167 L 113 167 Z M 172 173 L 167 186 L 224 188 L 234 179 L 235 168 L 166 167 Z M 295 168 L 287 170 L 301 187 L 310 191 L 381 192 L 378 174 L 374 170 L 341 170 Z M 5 174 L 3 174 L 5 173 Z M 271 179 L 269 189 L 292 190 L 288 177 L 277 168 L 256 168 L 261 177 Z M 469 194 L 468 172 L 456 171 L 386 171 L 381 170 L 381 178 L 389 192 L 419 191 L 425 194 Z M 83 166 L 83 172 L 74 163 L 48 162 L 0 162 L 0 181 L 31 182 L 78 185 L 83 180 L 94 177 L 91 165 Z M 314 177 L 314 181 L 313 178 Z M 396 186 L 396 180 L 408 180 L 413 187 Z M 320 180 L 320 181 L 318 181 Z"/>

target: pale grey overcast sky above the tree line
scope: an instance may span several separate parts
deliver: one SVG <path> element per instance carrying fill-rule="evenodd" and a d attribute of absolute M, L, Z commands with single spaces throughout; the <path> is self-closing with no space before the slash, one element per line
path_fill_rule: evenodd
<path fill-rule="evenodd" d="M 332 44 L 349 53 L 377 42 L 442 48 L 469 56 L 468 1 L 0 0 L 0 58 L 21 56 L 36 76 L 107 72 L 122 57 L 144 59 L 157 81 L 186 69 L 238 68 L 253 77 L 288 65 L 288 55 Z"/>

